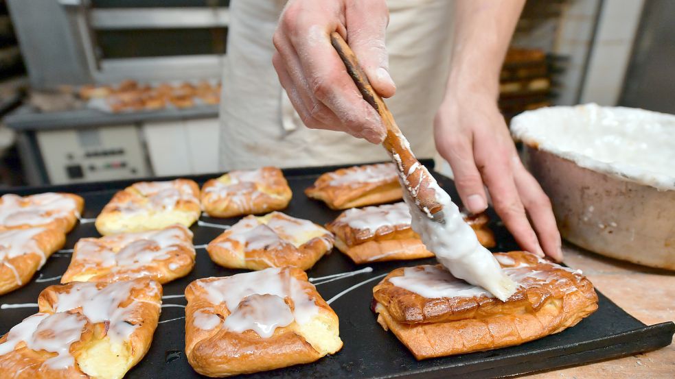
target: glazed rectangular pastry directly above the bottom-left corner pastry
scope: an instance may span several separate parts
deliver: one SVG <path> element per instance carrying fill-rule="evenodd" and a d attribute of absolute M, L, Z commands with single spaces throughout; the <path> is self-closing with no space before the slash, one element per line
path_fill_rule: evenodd
<path fill-rule="evenodd" d="M 194 257 L 192 232 L 180 224 L 162 230 L 80 239 L 61 282 L 151 278 L 164 284 L 190 273 Z"/>

